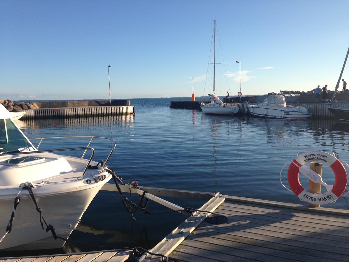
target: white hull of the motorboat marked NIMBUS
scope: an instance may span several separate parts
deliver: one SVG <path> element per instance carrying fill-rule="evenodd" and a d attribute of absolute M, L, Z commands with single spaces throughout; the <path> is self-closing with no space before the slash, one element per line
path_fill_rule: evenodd
<path fill-rule="evenodd" d="M 278 119 L 306 119 L 311 118 L 312 114 L 307 112 L 303 107 L 269 107 L 261 105 L 249 105 L 247 107 L 249 113 L 257 117 L 278 118 Z"/>

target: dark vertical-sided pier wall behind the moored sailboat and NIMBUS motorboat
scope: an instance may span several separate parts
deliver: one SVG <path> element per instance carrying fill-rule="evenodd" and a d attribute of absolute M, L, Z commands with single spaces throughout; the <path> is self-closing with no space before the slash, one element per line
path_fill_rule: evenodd
<path fill-rule="evenodd" d="M 209 102 L 209 101 L 204 101 Z M 199 101 L 171 101 L 171 108 L 185 108 L 185 109 L 198 109 L 201 111 Z M 236 107 L 239 107 L 237 115 L 244 115 L 247 111 L 247 104 L 245 103 L 232 103 Z M 335 119 L 334 115 L 327 109 L 326 103 L 298 103 L 290 104 L 300 107 L 308 108 L 309 112 L 313 114 L 313 118 L 321 119 Z"/>

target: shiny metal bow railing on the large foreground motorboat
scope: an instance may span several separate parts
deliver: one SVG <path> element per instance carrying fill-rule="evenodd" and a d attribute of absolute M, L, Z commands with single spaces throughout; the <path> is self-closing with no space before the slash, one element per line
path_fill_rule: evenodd
<path fill-rule="evenodd" d="M 51 150 L 44 150 L 44 151 L 39 151 L 39 147 L 40 145 L 42 144 L 43 140 L 45 139 L 60 139 L 60 138 L 90 138 L 90 141 L 88 143 L 88 145 L 86 147 L 74 147 L 74 148 L 63 148 L 63 149 L 51 149 Z M 86 167 L 84 168 L 84 171 L 80 177 L 80 180 L 83 179 L 86 171 L 87 171 L 87 168 L 88 166 L 90 165 L 91 161 L 92 161 L 92 157 L 94 156 L 95 154 L 95 150 L 94 148 L 90 147 L 91 143 L 92 143 L 92 140 L 93 139 L 107 139 L 107 140 L 110 140 L 112 143 L 113 143 L 113 146 L 111 148 L 111 151 L 109 152 L 108 154 L 108 157 L 106 158 L 106 160 L 104 161 L 104 165 L 102 166 L 101 170 L 99 170 L 99 173 L 98 174 L 101 174 L 106 163 L 108 162 L 111 154 L 113 153 L 115 147 L 116 147 L 116 141 L 114 139 L 111 139 L 111 138 L 107 138 L 107 137 L 95 137 L 95 136 L 66 136 L 66 137 L 43 137 L 43 138 L 31 138 L 29 140 L 40 140 L 38 146 L 36 147 L 36 149 L 38 151 L 27 151 L 27 152 L 18 152 L 18 153 L 9 153 L 9 154 L 1 154 L 1 157 L 5 156 L 5 155 L 23 155 L 23 154 L 37 154 L 37 153 L 51 153 L 51 152 L 61 152 L 61 151 L 76 151 L 76 150 L 84 150 L 82 156 L 80 159 L 83 159 L 83 157 L 85 156 L 87 150 L 91 150 L 91 156 L 89 158 L 89 161 L 86 165 Z"/>

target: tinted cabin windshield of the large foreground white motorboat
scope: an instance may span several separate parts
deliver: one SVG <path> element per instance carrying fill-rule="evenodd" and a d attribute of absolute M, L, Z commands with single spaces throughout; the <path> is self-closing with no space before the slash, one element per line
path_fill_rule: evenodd
<path fill-rule="evenodd" d="M 0 119 L 0 154 L 35 150 L 10 119 Z"/>

